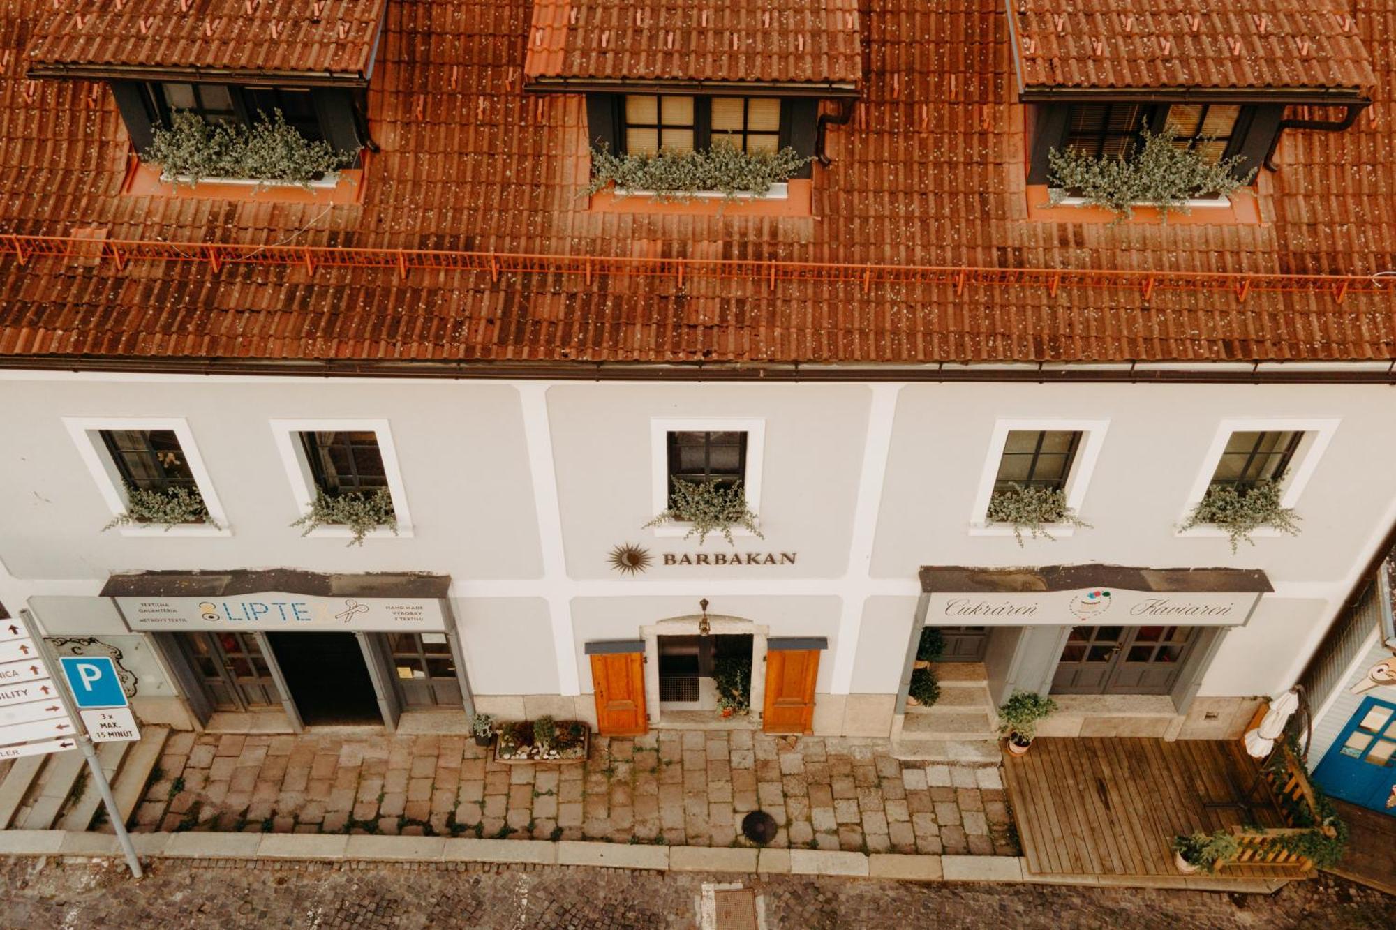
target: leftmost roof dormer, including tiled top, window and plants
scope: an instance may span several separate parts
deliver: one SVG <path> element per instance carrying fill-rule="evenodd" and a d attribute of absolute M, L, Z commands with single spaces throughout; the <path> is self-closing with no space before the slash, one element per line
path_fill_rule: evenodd
<path fill-rule="evenodd" d="M 106 81 L 137 159 L 127 193 L 296 187 L 342 202 L 346 176 L 359 189 L 346 195 L 362 194 L 387 1 L 64 6 L 36 29 L 28 75 Z"/>

